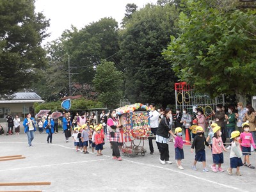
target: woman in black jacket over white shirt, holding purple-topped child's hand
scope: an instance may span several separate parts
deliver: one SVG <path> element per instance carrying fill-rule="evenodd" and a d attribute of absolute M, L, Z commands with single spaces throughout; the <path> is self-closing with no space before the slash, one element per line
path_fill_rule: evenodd
<path fill-rule="evenodd" d="M 169 108 L 166 108 L 156 131 L 156 142 L 160 147 L 159 161 L 161 164 L 172 164 L 172 161 L 169 160 L 168 134 L 172 134 L 173 138 L 175 138 L 175 136 L 172 132 L 170 118 L 172 118 L 172 111 Z"/>

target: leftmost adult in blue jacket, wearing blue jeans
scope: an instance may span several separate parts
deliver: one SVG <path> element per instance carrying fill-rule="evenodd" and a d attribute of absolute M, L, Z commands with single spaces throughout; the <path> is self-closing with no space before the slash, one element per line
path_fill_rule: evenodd
<path fill-rule="evenodd" d="M 28 136 L 28 145 L 32 147 L 32 141 L 34 140 L 34 132 L 36 131 L 35 119 L 31 117 L 31 114 L 28 113 L 27 117 L 24 119 L 23 126 L 24 132 Z"/>

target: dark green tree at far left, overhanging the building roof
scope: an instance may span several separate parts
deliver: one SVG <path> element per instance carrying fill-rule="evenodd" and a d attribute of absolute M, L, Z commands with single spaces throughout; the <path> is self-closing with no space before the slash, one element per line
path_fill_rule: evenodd
<path fill-rule="evenodd" d="M 42 40 L 49 20 L 35 13 L 33 0 L 0 1 L 0 94 L 29 88 L 45 65 Z"/>

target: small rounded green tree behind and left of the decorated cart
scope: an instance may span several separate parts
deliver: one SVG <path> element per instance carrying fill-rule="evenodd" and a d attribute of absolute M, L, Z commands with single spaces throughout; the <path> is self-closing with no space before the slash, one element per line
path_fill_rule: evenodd
<path fill-rule="evenodd" d="M 115 63 L 102 60 L 97 66 L 93 85 L 99 92 L 99 100 L 104 105 L 115 108 L 122 99 L 123 74 L 115 67 Z"/>

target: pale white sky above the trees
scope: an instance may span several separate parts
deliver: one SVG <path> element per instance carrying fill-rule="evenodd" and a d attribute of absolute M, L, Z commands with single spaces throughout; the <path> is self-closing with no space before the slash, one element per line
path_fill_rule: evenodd
<path fill-rule="evenodd" d="M 43 12 L 47 19 L 51 19 L 51 26 L 47 30 L 51 36 L 44 40 L 43 44 L 46 44 L 59 38 L 71 25 L 81 29 L 104 17 L 112 17 L 120 24 L 127 3 L 134 3 L 140 9 L 147 3 L 156 2 L 157 0 L 36 0 L 35 12 Z"/>

